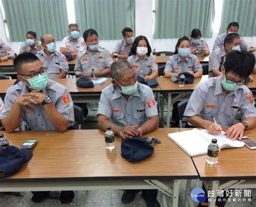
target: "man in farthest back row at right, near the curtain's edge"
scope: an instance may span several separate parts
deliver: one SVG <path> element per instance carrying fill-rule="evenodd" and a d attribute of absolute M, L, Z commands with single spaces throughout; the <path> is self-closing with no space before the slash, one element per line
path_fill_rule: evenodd
<path fill-rule="evenodd" d="M 223 44 L 224 44 L 224 39 L 225 37 L 232 33 L 232 32 L 235 32 L 235 33 L 238 33 L 238 29 L 239 29 L 239 24 L 237 22 L 231 22 L 230 24 L 228 24 L 227 26 L 227 32 L 223 33 L 223 34 L 220 34 L 214 41 L 214 45 L 213 45 L 213 51 L 214 49 L 217 49 L 217 48 L 222 48 L 223 47 Z M 246 51 L 247 50 L 247 43 L 245 42 L 244 39 L 241 38 L 241 50 L 242 51 Z M 255 51 L 255 47 L 252 47 L 251 48 L 253 51 Z"/>

